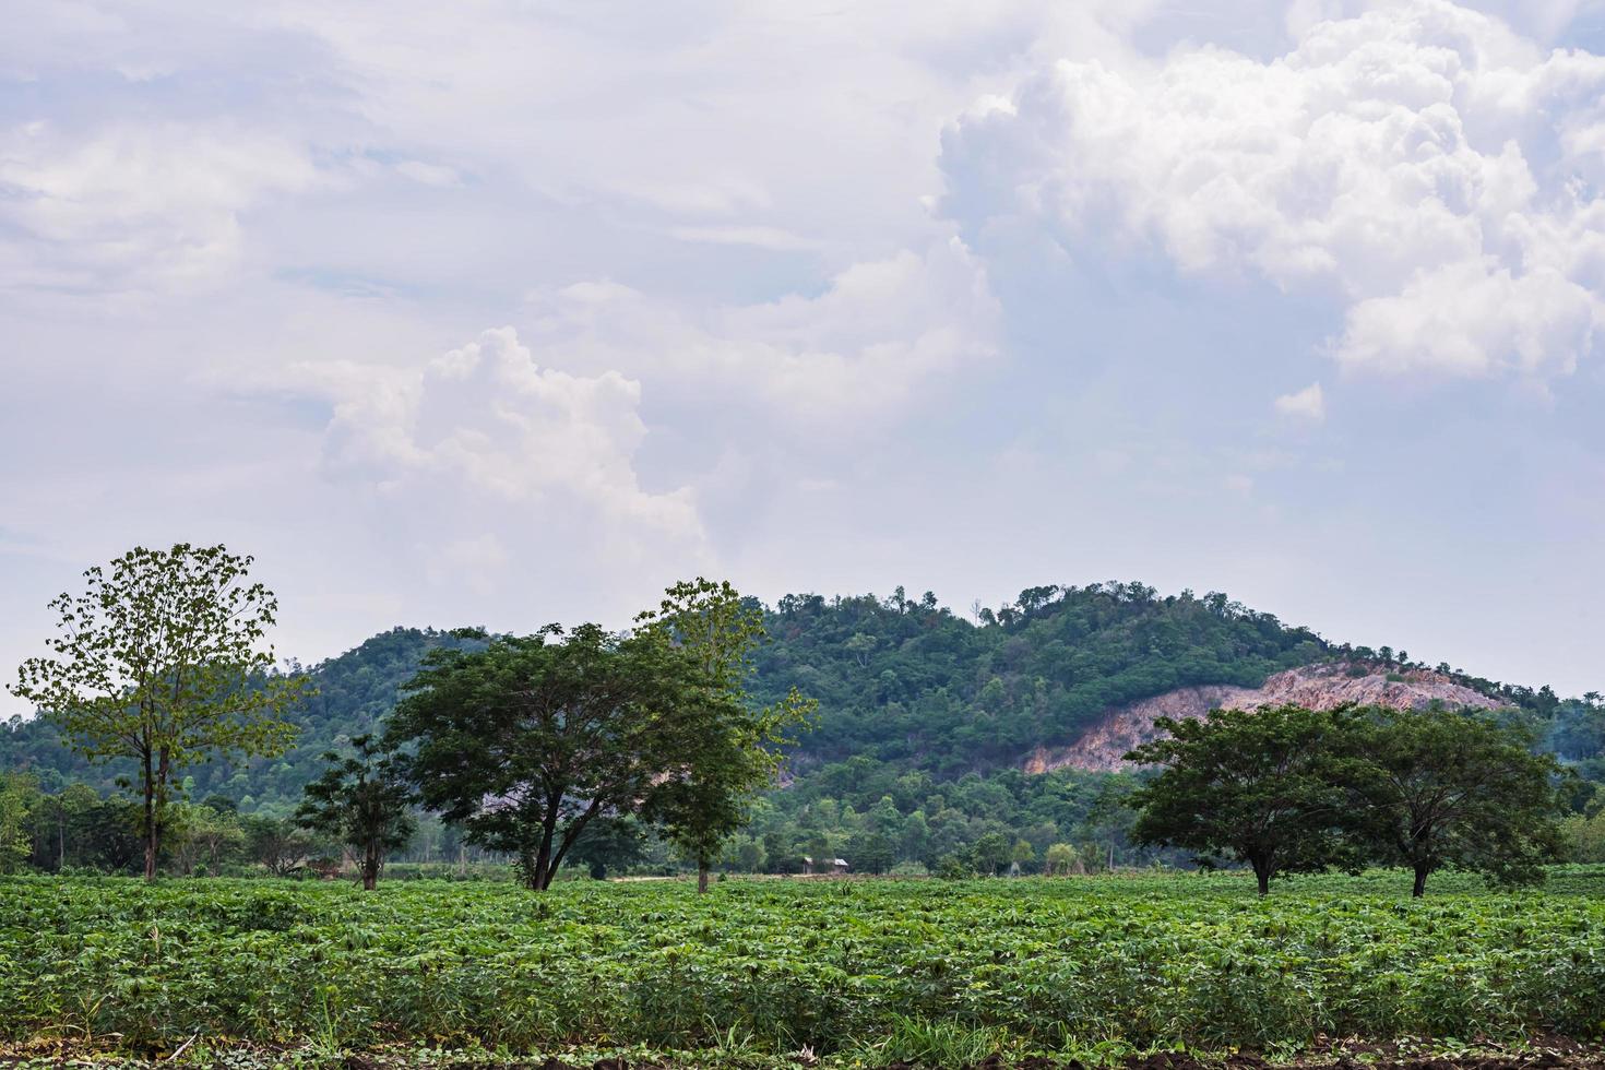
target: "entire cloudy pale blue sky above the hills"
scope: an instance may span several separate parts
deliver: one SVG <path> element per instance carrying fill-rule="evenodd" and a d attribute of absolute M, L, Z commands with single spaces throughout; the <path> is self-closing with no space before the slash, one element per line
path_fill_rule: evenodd
<path fill-rule="evenodd" d="M 0 21 L 0 679 L 188 541 L 305 663 L 1141 579 L 1605 688 L 1605 2 Z"/>

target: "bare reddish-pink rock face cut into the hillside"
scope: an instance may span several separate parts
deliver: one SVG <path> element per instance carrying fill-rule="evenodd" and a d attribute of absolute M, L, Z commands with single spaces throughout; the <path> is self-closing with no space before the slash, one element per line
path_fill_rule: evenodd
<path fill-rule="evenodd" d="M 1363 675 L 1351 675 L 1361 667 L 1364 669 Z M 1124 754 L 1159 735 L 1159 730 L 1154 728 L 1157 719 L 1197 719 L 1212 709 L 1258 709 L 1286 704 L 1332 709 L 1347 703 L 1392 706 L 1395 709 L 1424 709 L 1432 703 L 1461 709 L 1494 709 L 1499 706 L 1497 699 L 1461 687 L 1436 672 L 1408 669 L 1403 677 L 1403 680 L 1390 680 L 1388 674 L 1375 666 L 1327 664 L 1278 672 L 1257 688 L 1184 687 L 1109 711 L 1069 746 L 1037 748 L 1026 759 L 1024 770 L 1045 773 L 1050 768 L 1066 767 L 1099 772 L 1127 768 Z"/>

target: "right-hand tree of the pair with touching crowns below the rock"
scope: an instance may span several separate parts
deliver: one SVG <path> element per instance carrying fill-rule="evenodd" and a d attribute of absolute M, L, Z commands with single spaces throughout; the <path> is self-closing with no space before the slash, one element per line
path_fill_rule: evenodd
<path fill-rule="evenodd" d="M 1542 877 L 1565 853 L 1560 765 L 1518 723 L 1449 709 L 1367 709 L 1347 746 L 1348 786 L 1380 861 L 1409 868 L 1411 895 L 1453 866 L 1496 884 Z"/>

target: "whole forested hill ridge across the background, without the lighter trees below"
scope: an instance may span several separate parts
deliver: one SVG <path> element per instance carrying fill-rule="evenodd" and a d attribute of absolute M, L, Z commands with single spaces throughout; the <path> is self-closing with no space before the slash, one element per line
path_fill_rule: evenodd
<path fill-rule="evenodd" d="M 770 701 L 798 687 L 820 703 L 815 728 L 791 760 L 799 781 L 841 781 L 849 759 L 847 780 L 865 781 L 865 789 L 868 780 L 910 772 L 934 781 L 987 775 L 1018 768 L 1038 746 L 1072 743 L 1112 707 L 1175 688 L 1258 687 L 1282 669 L 1335 658 L 1400 669 L 1409 663 L 1387 646 L 1334 646 L 1226 595 L 1160 597 L 1143 584 L 1034 587 L 973 616 L 952 613 L 933 594 L 908 598 L 902 589 L 889 598 L 788 595 L 766 610 L 772 642 L 758 656 L 756 696 Z M 287 809 L 324 751 L 388 712 L 427 650 L 457 642 L 395 629 L 316 666 L 319 695 L 295 715 L 297 746 L 273 760 L 196 768 L 191 796 Z M 1594 704 L 1575 704 L 1586 715 L 1571 715 L 1547 690 L 1456 679 L 1552 722 L 1557 749 L 1570 740 L 1578 757 L 1599 752 L 1594 736 L 1605 732 L 1605 715 L 1595 715 Z M 40 722 L 0 732 L 6 768 L 37 770 L 47 788 L 83 780 L 101 789 L 132 772 L 88 767 Z"/>

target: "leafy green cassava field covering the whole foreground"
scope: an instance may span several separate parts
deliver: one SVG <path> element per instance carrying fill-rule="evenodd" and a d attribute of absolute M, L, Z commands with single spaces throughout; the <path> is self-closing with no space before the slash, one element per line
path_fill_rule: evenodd
<path fill-rule="evenodd" d="M 0 1033 L 189 1065 L 1594 1059 L 1605 866 L 1408 884 L 11 877 Z"/>

